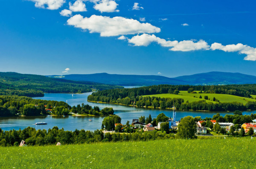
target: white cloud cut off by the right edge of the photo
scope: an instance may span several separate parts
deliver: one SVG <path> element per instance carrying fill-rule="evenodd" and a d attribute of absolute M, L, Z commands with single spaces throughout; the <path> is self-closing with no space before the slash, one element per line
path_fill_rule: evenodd
<path fill-rule="evenodd" d="M 244 60 L 256 61 L 256 48 L 248 45 L 238 43 L 236 45 L 222 45 L 221 43 L 213 43 L 211 45 L 212 50 L 221 50 L 225 52 L 239 52 L 239 54 L 246 54 Z"/>

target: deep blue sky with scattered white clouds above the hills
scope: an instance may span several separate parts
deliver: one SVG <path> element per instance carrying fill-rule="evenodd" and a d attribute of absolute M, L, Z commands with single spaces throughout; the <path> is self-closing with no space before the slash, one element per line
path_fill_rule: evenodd
<path fill-rule="evenodd" d="M 3 0 L 0 71 L 256 75 L 255 5 L 253 0 Z"/>

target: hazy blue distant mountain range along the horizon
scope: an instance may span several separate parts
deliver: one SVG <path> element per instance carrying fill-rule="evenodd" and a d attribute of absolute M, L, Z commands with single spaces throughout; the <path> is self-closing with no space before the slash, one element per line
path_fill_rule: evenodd
<path fill-rule="evenodd" d="M 108 73 L 52 75 L 52 78 L 73 81 L 89 81 L 109 85 L 121 86 L 149 86 L 149 85 L 230 85 L 230 84 L 256 84 L 256 76 L 242 73 L 208 72 L 188 76 L 168 78 L 155 75 L 120 75 Z"/>

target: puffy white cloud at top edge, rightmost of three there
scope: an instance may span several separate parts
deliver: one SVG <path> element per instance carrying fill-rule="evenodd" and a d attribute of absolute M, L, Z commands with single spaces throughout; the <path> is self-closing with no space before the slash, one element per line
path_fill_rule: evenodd
<path fill-rule="evenodd" d="M 95 6 L 93 6 L 94 9 L 102 12 L 119 12 L 118 9 L 116 9 L 118 4 L 113 0 L 102 0 L 100 3 L 96 3 Z"/>

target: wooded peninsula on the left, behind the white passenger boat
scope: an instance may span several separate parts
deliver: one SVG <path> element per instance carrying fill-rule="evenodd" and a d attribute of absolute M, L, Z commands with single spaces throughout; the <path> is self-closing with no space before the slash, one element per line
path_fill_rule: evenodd
<path fill-rule="evenodd" d="M 26 96 L 0 96 L 0 116 L 19 115 L 68 115 L 68 113 L 83 115 L 113 115 L 113 108 L 91 107 L 88 104 L 80 104 L 71 107 L 64 101 L 48 101 L 32 99 Z"/>

